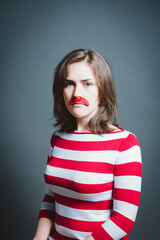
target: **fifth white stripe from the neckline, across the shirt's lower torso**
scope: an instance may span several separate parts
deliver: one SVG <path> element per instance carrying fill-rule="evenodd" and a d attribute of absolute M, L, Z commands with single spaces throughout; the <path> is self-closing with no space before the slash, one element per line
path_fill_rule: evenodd
<path fill-rule="evenodd" d="M 56 202 L 56 212 L 67 218 L 82 221 L 106 221 L 110 218 L 111 210 L 80 210 L 64 206 Z"/>

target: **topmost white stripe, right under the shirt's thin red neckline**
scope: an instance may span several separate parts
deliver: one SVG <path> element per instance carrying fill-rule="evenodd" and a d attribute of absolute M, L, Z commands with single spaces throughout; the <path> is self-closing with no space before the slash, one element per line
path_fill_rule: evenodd
<path fill-rule="evenodd" d="M 56 133 L 55 135 L 60 136 L 63 139 L 70 141 L 83 141 L 86 142 L 96 142 L 96 141 L 110 141 L 120 138 L 126 138 L 128 136 L 128 131 L 119 131 L 117 133 L 106 133 L 106 134 L 78 134 L 78 133 Z"/>

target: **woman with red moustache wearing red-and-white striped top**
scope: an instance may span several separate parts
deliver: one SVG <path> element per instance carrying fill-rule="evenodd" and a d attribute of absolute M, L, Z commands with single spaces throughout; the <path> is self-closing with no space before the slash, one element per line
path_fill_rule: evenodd
<path fill-rule="evenodd" d="M 141 190 L 141 153 L 118 127 L 112 73 L 94 50 L 67 54 L 55 71 L 46 193 L 35 240 L 129 239 Z"/>

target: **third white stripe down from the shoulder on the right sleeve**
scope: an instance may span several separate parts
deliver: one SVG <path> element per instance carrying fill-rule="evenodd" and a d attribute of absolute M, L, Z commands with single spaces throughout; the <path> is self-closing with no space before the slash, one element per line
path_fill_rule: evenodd
<path fill-rule="evenodd" d="M 113 210 L 135 222 L 138 207 L 120 200 L 113 200 Z"/>

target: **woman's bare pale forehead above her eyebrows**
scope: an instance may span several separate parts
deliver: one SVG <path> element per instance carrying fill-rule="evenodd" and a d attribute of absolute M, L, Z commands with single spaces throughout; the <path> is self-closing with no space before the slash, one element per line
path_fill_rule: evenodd
<path fill-rule="evenodd" d="M 95 80 L 95 74 L 92 67 L 87 62 L 72 63 L 68 66 L 67 79 L 70 80 Z"/>

